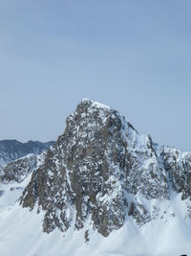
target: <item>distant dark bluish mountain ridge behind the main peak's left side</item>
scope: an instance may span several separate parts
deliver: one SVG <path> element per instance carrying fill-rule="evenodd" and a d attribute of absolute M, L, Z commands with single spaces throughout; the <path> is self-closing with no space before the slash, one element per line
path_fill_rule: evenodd
<path fill-rule="evenodd" d="M 53 146 L 53 143 L 53 141 L 42 143 L 30 140 L 27 143 L 22 143 L 17 140 L 1 140 L 0 171 L 3 169 L 2 165 L 6 165 L 29 153 L 40 154 L 43 151 L 47 151 L 50 146 Z"/>

